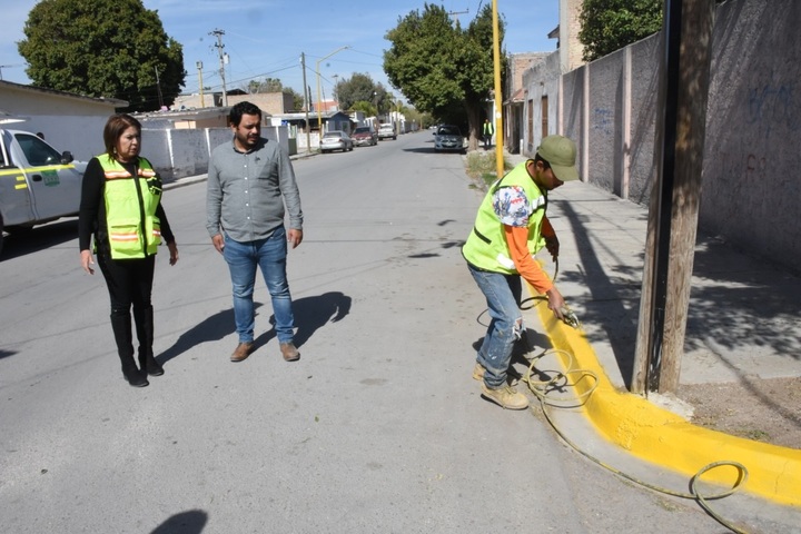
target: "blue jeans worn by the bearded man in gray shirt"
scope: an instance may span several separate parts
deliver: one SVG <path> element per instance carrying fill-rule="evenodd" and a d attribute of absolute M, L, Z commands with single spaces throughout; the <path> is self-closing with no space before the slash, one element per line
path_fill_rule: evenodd
<path fill-rule="evenodd" d="M 287 237 L 281 226 L 271 236 L 256 241 L 235 241 L 225 236 L 222 256 L 228 263 L 234 287 L 234 317 L 239 343 L 254 340 L 256 316 L 254 312 L 254 286 L 256 266 L 261 269 L 267 290 L 273 300 L 276 337 L 280 343 L 291 343 L 295 317 L 291 295 L 286 277 Z"/>

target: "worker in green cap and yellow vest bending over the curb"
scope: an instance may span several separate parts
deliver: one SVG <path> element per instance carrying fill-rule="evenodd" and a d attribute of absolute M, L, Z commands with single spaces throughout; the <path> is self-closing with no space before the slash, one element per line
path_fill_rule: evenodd
<path fill-rule="evenodd" d="M 546 295 L 548 308 L 563 319 L 564 298 L 534 259 L 546 247 L 558 256 L 558 239 L 545 216 L 548 191 L 578 179 L 575 144 L 547 136 L 534 159 L 520 164 L 490 187 L 478 208 L 475 226 L 462 255 L 473 279 L 486 297 L 491 317 L 476 355 L 473 377 L 482 382 L 483 395 L 508 409 L 525 409 L 528 399 L 506 380 L 515 339 L 523 328 L 514 283 L 523 277 Z"/>

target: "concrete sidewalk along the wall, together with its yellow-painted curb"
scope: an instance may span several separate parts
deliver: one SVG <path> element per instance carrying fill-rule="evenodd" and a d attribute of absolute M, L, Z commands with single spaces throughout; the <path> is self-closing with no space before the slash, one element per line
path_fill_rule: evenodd
<path fill-rule="evenodd" d="M 525 157 L 506 159 L 517 164 Z M 596 386 L 583 375 L 575 387 L 589 395 L 582 413 L 595 434 L 688 478 L 713 462 L 738 462 L 748 469 L 740 491 L 801 511 L 795 508 L 801 506 L 800 448 L 710 431 L 692 424 L 692 406 L 627 393 L 647 208 L 590 184 L 568 182 L 550 195 L 548 218 L 561 241 L 556 284 L 582 329 L 556 322 L 543 306 L 533 310 L 537 323 L 526 320 L 542 322 L 553 347 L 575 358 L 573 368 L 597 375 Z M 546 266 L 548 273 L 552 268 Z M 753 387 L 801 375 L 801 279 L 699 233 L 692 284 L 681 386 L 744 384 L 750 387 L 742 388 L 730 409 L 762 409 L 764 417 L 782 417 L 801 428 L 801 414 L 782 411 L 778 400 Z M 566 359 L 562 357 L 563 366 Z M 728 469 L 710 472 L 704 479 L 731 487 L 735 472 Z"/>

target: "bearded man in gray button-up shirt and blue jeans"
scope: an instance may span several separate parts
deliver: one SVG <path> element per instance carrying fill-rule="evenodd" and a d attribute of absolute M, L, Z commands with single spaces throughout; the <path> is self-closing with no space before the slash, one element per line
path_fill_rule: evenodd
<path fill-rule="evenodd" d="M 300 357 L 294 344 L 295 317 L 286 276 L 287 241 L 303 240 L 303 210 L 289 155 L 261 137 L 261 110 L 239 102 L 230 110 L 233 142 L 211 151 L 206 196 L 206 228 L 222 255 L 234 287 L 239 344 L 231 362 L 254 349 L 254 285 L 261 269 L 273 301 L 276 337 L 284 359 Z M 286 210 L 285 210 L 286 205 Z M 289 228 L 284 226 L 289 214 Z"/>

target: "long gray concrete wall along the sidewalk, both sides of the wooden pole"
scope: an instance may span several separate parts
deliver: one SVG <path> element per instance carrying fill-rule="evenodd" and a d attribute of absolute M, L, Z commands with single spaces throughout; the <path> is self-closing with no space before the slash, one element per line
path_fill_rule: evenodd
<path fill-rule="evenodd" d="M 795 273 L 801 271 L 800 23 L 798 0 L 718 6 L 699 211 L 705 231 Z M 645 206 L 655 180 L 661 39 L 652 36 L 556 75 L 560 122 L 548 123 L 550 132 L 578 145 L 584 180 Z M 526 106 L 540 106 L 546 76 L 525 78 Z M 525 132 L 524 154 L 533 156 L 540 128 L 535 121 Z"/>

